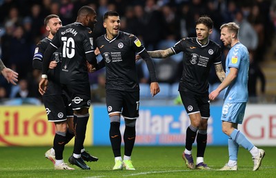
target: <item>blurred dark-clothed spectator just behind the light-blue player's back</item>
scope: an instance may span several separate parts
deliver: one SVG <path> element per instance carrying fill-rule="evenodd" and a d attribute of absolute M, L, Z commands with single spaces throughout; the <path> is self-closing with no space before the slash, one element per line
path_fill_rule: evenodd
<path fill-rule="evenodd" d="M 253 55 L 250 52 L 249 55 L 250 66 L 248 71 L 248 97 L 251 103 L 259 101 L 259 97 L 263 97 L 266 88 L 266 79 L 258 63 L 254 61 Z M 257 96 L 257 80 L 261 81 L 260 96 Z"/>

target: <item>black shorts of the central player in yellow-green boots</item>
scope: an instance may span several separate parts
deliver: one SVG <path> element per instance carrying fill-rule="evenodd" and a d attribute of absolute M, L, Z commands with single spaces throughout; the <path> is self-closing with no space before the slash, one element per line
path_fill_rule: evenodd
<path fill-rule="evenodd" d="M 120 113 L 126 119 L 139 117 L 139 91 L 106 90 L 108 115 Z"/>

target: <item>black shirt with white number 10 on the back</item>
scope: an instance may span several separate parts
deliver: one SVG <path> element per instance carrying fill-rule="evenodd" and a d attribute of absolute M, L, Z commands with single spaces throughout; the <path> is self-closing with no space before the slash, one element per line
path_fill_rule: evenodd
<path fill-rule="evenodd" d="M 71 23 L 59 29 L 52 44 L 62 48 L 61 83 L 88 81 L 86 53 L 94 52 L 92 31 L 81 23 Z"/>

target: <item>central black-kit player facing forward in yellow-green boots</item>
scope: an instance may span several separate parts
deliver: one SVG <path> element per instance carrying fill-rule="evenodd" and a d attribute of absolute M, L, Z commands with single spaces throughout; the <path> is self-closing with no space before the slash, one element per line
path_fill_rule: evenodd
<path fill-rule="evenodd" d="M 110 117 L 110 142 L 115 156 L 113 170 L 135 170 L 131 161 L 135 144 L 136 119 L 139 117 L 139 82 L 135 67 L 136 53 L 146 61 L 150 71 L 150 93 L 157 95 L 159 85 L 155 75 L 155 66 L 148 52 L 133 34 L 121 32 L 119 14 L 114 11 L 103 15 L 103 27 L 106 34 L 97 38 L 103 60 L 96 69 L 106 66 L 106 106 Z M 124 117 L 124 161 L 121 158 L 120 117 Z"/>

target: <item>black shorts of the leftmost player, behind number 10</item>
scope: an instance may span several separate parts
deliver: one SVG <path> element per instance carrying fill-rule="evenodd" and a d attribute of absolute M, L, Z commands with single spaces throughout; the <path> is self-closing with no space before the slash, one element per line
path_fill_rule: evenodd
<path fill-rule="evenodd" d="M 66 105 L 61 95 L 47 95 L 42 97 L 48 121 L 66 121 Z"/>

